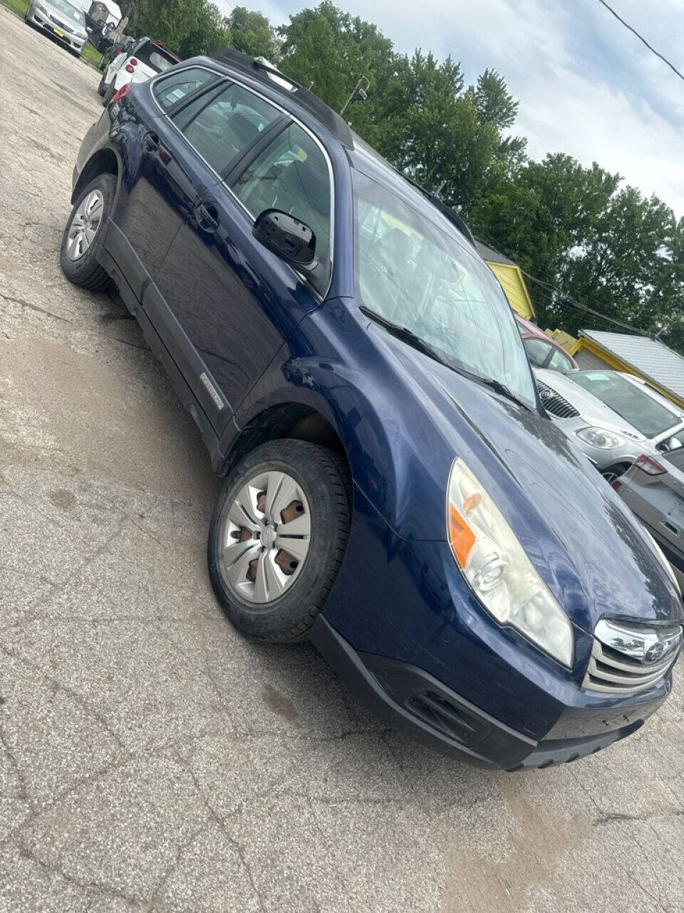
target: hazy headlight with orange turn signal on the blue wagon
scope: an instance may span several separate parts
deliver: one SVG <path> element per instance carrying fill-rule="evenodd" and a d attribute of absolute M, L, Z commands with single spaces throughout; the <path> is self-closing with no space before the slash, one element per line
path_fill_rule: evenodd
<path fill-rule="evenodd" d="M 573 665 L 573 629 L 501 511 L 461 459 L 449 476 L 447 531 L 461 572 L 484 608 L 559 663 Z"/>

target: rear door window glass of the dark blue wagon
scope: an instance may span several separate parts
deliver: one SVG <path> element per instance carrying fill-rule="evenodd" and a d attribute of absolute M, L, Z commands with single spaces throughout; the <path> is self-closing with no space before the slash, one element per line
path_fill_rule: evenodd
<path fill-rule="evenodd" d="M 230 85 L 190 102 L 173 120 L 213 170 L 223 174 L 281 112 L 249 89 Z"/>

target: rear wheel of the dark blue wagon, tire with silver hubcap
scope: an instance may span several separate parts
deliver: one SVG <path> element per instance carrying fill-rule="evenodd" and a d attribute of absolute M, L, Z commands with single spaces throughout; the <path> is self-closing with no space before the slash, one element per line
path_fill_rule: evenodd
<path fill-rule="evenodd" d="M 116 193 L 116 177 L 98 174 L 78 194 L 64 229 L 59 263 L 69 282 L 83 289 L 102 291 L 111 285 L 97 256 Z"/>

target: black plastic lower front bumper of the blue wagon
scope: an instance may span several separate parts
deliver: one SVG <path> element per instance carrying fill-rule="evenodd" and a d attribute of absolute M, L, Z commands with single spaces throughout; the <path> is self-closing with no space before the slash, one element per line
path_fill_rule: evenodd
<path fill-rule="evenodd" d="M 577 710 L 561 717 L 543 740 L 534 740 L 494 719 L 430 673 L 408 663 L 360 654 L 319 615 L 311 631 L 317 649 L 380 719 L 418 737 L 431 748 L 456 754 L 476 767 L 506 771 L 545 768 L 596 754 L 636 732 L 667 697 L 611 716 Z M 568 735 L 589 729 L 590 734 Z"/>

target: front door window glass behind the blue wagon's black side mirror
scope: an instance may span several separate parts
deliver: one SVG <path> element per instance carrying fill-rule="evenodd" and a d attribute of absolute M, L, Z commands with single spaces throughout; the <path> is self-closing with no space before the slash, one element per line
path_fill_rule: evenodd
<path fill-rule="evenodd" d="M 281 209 L 305 222 L 316 235 L 316 259 L 329 264 L 330 173 L 319 146 L 297 124 L 254 159 L 233 193 L 254 218 L 264 209 Z"/>

